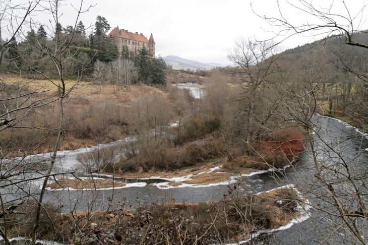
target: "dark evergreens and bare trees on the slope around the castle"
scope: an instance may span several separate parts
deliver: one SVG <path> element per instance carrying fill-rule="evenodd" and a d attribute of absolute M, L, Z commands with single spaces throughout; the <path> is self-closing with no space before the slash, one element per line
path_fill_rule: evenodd
<path fill-rule="evenodd" d="M 117 90 L 122 89 L 123 84 L 128 88 L 131 83 L 166 84 L 166 64 L 161 56 L 149 58 L 145 47 L 129 50 L 127 45 L 122 45 L 119 52 L 113 41 L 106 37 L 110 25 L 104 17 L 97 16 L 94 29 L 89 34 L 86 32 L 88 29 L 82 21 L 75 27 L 63 27 L 59 22 L 54 26 L 33 23 L 23 38 L 19 35 L 13 37 L 5 46 L 1 70 L 9 73 L 17 71 L 24 76 L 34 77 L 38 76 L 36 69 L 57 77 L 53 74 L 52 58 L 45 57 L 42 50 L 35 46 L 51 50 L 53 45 L 62 45 L 73 56 L 68 60 L 70 72 L 77 71 L 82 64 L 88 63 L 83 71 L 84 75 L 99 84 L 102 80 L 110 81 L 116 84 Z M 56 39 L 58 43 L 55 43 Z"/>

